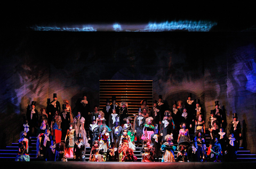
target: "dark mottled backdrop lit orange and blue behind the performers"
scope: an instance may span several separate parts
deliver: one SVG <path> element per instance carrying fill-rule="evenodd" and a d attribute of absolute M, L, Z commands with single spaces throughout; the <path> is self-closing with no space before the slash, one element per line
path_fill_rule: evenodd
<path fill-rule="evenodd" d="M 170 105 L 188 92 L 206 122 L 219 100 L 227 123 L 238 114 L 255 153 L 256 49 L 250 32 L 1 32 L 1 147 L 17 142 L 26 107 L 47 98 L 99 104 L 99 80 L 153 80 L 154 99 Z"/>

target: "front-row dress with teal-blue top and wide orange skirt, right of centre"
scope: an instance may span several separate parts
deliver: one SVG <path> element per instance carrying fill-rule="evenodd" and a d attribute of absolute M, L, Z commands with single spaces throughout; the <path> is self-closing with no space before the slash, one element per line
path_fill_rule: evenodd
<path fill-rule="evenodd" d="M 162 162 L 175 162 L 174 151 L 176 149 L 172 142 L 164 142 L 161 149 L 164 151 Z"/>

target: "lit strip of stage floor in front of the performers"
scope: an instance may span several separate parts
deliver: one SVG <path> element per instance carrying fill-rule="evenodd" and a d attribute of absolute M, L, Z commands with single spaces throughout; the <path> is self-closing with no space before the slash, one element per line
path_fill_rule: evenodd
<path fill-rule="evenodd" d="M 111 168 L 111 169 L 137 169 L 137 168 L 176 168 L 176 169 L 201 169 L 201 168 L 218 168 L 218 169 L 224 169 L 224 168 L 254 168 L 255 162 L 223 162 L 223 163 L 213 163 L 213 162 L 190 162 L 190 163 L 158 163 L 158 162 L 152 162 L 152 163 L 141 163 L 141 162 L 3 162 L 2 166 L 3 168 L 33 168 L 33 169 L 41 169 L 41 168 L 47 168 L 47 169 L 57 169 L 57 168 Z"/>

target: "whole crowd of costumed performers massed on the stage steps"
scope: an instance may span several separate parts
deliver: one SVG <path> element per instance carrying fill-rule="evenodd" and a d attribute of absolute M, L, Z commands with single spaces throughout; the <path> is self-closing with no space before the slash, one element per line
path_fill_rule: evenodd
<path fill-rule="evenodd" d="M 48 99 L 40 113 L 35 102 L 28 106 L 15 160 L 29 160 L 28 138 L 31 136 L 37 137 L 36 157 L 47 161 L 67 161 L 67 158 L 85 161 L 87 147 L 91 148 L 90 162 L 135 162 L 135 143 L 140 148 L 142 162 L 235 161 L 242 144 L 241 124 L 236 114 L 227 136 L 226 115 L 219 102 L 215 102 L 206 125 L 205 112 L 191 94 L 185 103 L 179 100 L 172 108 L 163 102 L 161 95 L 151 109 L 144 99 L 138 114 L 133 115 L 128 113 L 128 104 L 117 104 L 115 97 L 111 103 L 106 100 L 102 111 L 94 106 L 90 112 L 90 102 L 84 95 L 76 103 L 77 116 L 71 112 L 67 99 L 63 103 L 61 111 L 57 94 L 53 94 L 52 102 Z M 209 143 L 206 132 L 210 133 Z"/>

